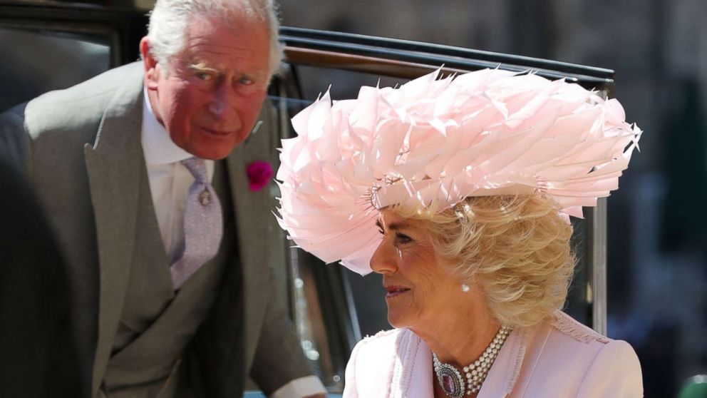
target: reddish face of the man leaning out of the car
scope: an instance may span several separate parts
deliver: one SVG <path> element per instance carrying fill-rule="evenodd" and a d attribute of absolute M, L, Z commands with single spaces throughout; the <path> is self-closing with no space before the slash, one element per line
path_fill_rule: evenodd
<path fill-rule="evenodd" d="M 205 159 L 225 158 L 252 130 L 269 82 L 266 24 L 195 17 L 185 48 L 165 71 L 140 44 L 145 86 L 158 121 L 177 146 Z"/>

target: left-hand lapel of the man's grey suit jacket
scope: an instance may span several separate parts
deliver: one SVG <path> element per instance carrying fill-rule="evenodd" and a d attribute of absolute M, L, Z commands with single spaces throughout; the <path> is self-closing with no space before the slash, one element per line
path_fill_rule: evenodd
<path fill-rule="evenodd" d="M 142 92 L 143 73 L 136 66 L 106 108 L 96 143 L 84 147 L 100 263 L 98 342 L 91 397 L 96 396 L 110 358 L 130 278 L 140 171 L 145 161 L 140 145 Z"/>

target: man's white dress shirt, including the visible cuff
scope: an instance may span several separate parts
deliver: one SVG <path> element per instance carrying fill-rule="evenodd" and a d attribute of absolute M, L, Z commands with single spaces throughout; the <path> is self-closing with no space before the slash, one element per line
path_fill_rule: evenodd
<path fill-rule="evenodd" d="M 167 260 L 172 264 L 184 250 L 185 204 L 189 188 L 194 183 L 192 173 L 181 161 L 192 158 L 193 155 L 172 142 L 169 133 L 153 113 L 147 90 L 144 91 L 141 141 L 162 243 L 165 245 Z M 211 181 L 214 178 L 214 161 L 205 162 Z M 285 384 L 271 397 L 301 398 L 324 393 L 326 389 L 318 377 L 306 376 Z"/>

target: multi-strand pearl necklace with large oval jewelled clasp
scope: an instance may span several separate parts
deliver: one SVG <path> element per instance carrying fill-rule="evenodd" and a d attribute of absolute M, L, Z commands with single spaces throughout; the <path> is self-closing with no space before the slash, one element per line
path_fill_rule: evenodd
<path fill-rule="evenodd" d="M 456 367 L 440 362 L 437 354 L 432 353 L 437 381 L 440 383 L 444 393 L 447 394 L 447 397 L 462 398 L 464 393 L 471 395 L 480 391 L 481 384 L 486 379 L 493 361 L 498 356 L 498 352 L 501 350 L 501 346 L 508 335 L 510 335 L 511 330 L 510 327 L 501 327 L 495 337 L 493 337 L 493 340 L 491 340 L 491 343 L 486 347 L 484 353 L 481 354 L 481 357 L 476 359 L 473 364 L 463 368 L 463 375 Z"/>

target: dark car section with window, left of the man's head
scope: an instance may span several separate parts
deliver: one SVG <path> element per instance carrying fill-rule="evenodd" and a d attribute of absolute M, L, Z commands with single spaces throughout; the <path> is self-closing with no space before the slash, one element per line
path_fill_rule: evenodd
<path fill-rule="evenodd" d="M 0 112 L 138 60 L 140 9 L 0 1 Z"/>

